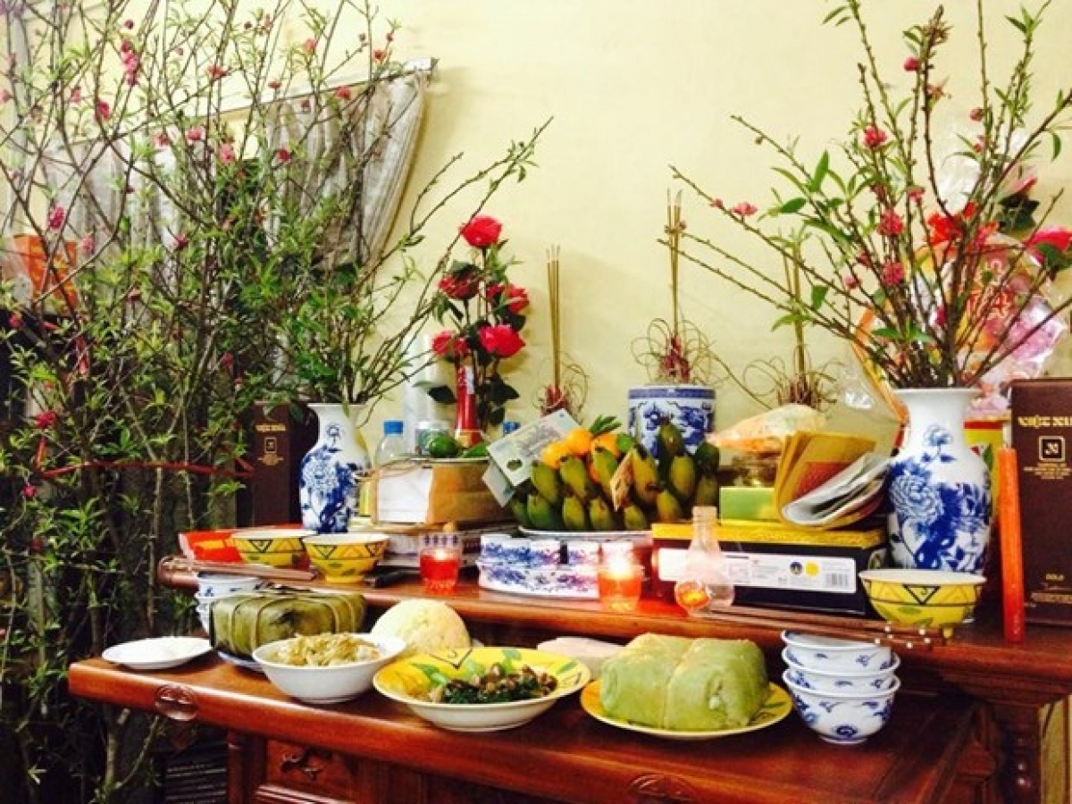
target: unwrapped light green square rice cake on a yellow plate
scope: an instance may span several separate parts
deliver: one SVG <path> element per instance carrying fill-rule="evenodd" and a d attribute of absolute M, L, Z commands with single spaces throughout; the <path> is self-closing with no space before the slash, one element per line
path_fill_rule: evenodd
<path fill-rule="evenodd" d="M 611 717 L 673 731 L 747 726 L 769 695 L 755 642 L 643 634 L 602 666 L 599 695 Z"/>

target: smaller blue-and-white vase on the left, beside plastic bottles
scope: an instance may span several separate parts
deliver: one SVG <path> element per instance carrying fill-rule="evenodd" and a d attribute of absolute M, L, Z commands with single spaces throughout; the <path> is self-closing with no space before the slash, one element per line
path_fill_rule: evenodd
<path fill-rule="evenodd" d="M 357 513 L 361 478 L 372 467 L 349 407 L 311 404 L 319 422 L 316 443 L 301 459 L 298 501 L 301 525 L 316 533 L 345 533 Z"/>

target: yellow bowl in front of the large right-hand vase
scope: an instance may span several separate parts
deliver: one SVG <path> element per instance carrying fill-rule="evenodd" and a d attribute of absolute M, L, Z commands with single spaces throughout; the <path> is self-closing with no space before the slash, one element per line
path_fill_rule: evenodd
<path fill-rule="evenodd" d="M 942 569 L 865 569 L 867 599 L 889 623 L 912 628 L 953 629 L 971 619 L 986 579 Z"/>

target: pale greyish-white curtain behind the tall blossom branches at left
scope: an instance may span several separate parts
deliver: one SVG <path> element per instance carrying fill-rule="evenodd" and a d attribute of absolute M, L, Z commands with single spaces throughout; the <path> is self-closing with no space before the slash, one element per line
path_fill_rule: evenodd
<path fill-rule="evenodd" d="M 413 71 L 353 87 L 353 103 L 313 103 L 307 96 L 268 109 L 265 133 L 272 153 L 294 154 L 283 189 L 287 200 L 303 212 L 331 197 L 359 202 L 325 234 L 334 241 L 327 245 L 337 258 L 363 260 L 383 248 L 416 152 L 430 75 Z M 96 142 L 57 139 L 46 150 L 40 176 L 53 203 L 66 211 L 69 240 L 111 230 L 126 214 L 136 243 L 174 242 L 182 230 L 178 211 L 145 178 L 145 169 L 131 169 L 131 159 L 123 143 L 108 149 Z M 151 159 L 157 176 L 174 172 L 169 149 L 158 149 Z"/>

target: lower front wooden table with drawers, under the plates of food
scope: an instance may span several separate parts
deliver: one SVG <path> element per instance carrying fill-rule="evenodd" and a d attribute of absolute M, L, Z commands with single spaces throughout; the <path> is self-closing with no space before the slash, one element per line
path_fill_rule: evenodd
<path fill-rule="evenodd" d="M 900 695 L 863 745 L 829 745 L 795 715 L 742 734 L 661 741 L 602 724 L 577 697 L 507 731 L 456 733 L 371 691 L 310 706 L 214 656 L 134 672 L 71 667 L 73 695 L 222 727 L 230 804 L 970 804 L 993 773 L 976 705 Z"/>

